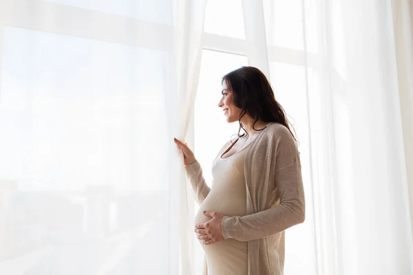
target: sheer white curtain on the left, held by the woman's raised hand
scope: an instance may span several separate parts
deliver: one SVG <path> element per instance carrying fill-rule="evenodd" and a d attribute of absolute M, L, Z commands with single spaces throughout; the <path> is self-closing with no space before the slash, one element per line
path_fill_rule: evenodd
<path fill-rule="evenodd" d="M 0 1 L 0 274 L 191 274 L 205 1 Z"/>

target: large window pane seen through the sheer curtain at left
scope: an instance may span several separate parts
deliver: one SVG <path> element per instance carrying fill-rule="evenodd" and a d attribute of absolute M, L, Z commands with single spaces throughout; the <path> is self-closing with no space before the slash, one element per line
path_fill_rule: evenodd
<path fill-rule="evenodd" d="M 168 274 L 167 46 L 0 28 L 0 274 Z"/>

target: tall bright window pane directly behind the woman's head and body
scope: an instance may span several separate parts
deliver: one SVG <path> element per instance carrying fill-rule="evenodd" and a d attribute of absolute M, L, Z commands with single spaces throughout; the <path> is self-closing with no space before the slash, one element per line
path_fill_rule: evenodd
<path fill-rule="evenodd" d="M 211 163 L 219 148 L 237 133 L 237 123 L 227 124 L 218 108 L 220 80 L 224 74 L 246 65 L 245 56 L 204 51 L 200 85 L 195 104 L 195 155 L 204 169 L 207 184 L 211 185 Z M 219 64 L 219 66 L 217 66 Z M 311 182 L 309 170 L 309 144 L 306 105 L 306 72 L 304 67 L 284 63 L 271 63 L 271 83 L 275 97 L 282 104 L 293 123 L 300 142 L 299 151 L 306 191 L 306 223 L 286 231 L 285 272 L 288 275 L 316 274 L 313 209 L 311 208 Z M 309 78 L 315 78 L 309 72 Z M 294 133 L 294 132 L 293 132 Z M 215 148 L 215 149 L 213 149 Z M 198 207 L 196 210 L 198 210 Z M 196 212 L 196 211 L 195 211 Z M 202 249 L 197 248 L 197 264 L 202 269 Z"/>

